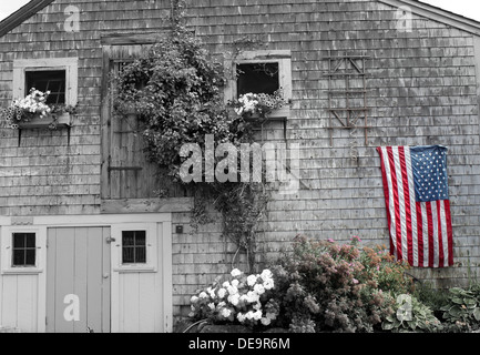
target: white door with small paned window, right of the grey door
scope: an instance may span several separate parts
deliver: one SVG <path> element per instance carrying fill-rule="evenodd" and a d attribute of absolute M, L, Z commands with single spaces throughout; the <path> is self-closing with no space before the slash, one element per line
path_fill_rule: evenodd
<path fill-rule="evenodd" d="M 167 332 L 164 223 L 125 223 L 112 226 L 112 332 Z M 170 253 L 170 252 L 168 252 Z M 170 261 L 171 263 L 171 261 Z M 168 266 L 166 266 L 168 267 Z M 170 278 L 170 277 L 166 277 Z M 171 295 L 166 295 L 171 298 Z M 168 308 L 168 307 L 167 307 Z"/>

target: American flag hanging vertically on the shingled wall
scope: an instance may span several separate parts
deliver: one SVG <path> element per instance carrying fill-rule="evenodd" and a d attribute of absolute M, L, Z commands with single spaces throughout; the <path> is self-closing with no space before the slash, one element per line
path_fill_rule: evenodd
<path fill-rule="evenodd" d="M 447 148 L 379 146 L 390 253 L 411 266 L 453 265 Z"/>

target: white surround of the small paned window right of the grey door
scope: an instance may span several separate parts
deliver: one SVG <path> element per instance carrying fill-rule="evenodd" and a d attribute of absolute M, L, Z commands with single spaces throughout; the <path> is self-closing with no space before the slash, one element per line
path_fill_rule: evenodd
<path fill-rule="evenodd" d="M 125 231 L 145 231 L 145 263 L 124 264 L 123 263 L 123 232 Z M 119 273 L 137 273 L 137 272 L 157 272 L 157 224 L 156 223 L 122 223 L 112 225 L 113 247 L 116 251 L 112 253 L 113 271 Z"/>

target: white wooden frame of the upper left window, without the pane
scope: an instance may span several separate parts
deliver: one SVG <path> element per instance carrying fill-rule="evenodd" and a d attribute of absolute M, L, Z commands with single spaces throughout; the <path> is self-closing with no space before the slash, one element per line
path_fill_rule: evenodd
<path fill-rule="evenodd" d="M 79 59 L 17 59 L 13 61 L 13 99 L 23 99 L 28 92 L 27 72 L 29 71 L 65 71 L 65 105 L 76 105 L 79 93 Z"/>

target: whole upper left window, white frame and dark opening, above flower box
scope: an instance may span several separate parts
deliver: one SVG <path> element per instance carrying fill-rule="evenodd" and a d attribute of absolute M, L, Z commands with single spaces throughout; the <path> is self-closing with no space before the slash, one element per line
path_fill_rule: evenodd
<path fill-rule="evenodd" d="M 50 90 L 47 103 L 75 105 L 79 60 L 76 58 L 18 59 L 13 61 L 13 99 L 24 98 L 31 88 Z"/>

